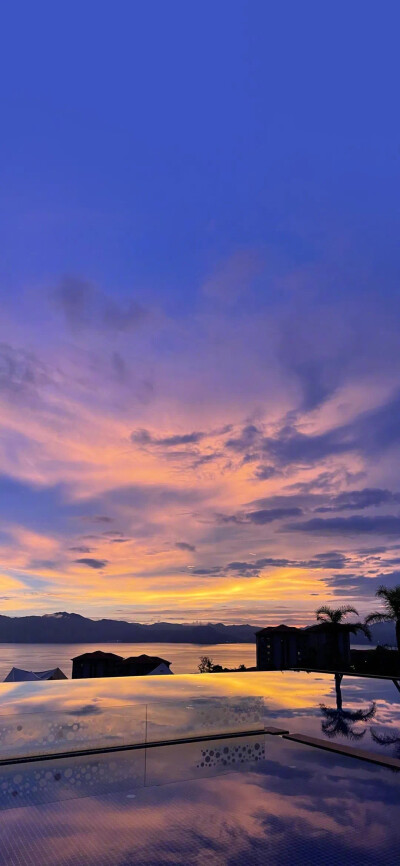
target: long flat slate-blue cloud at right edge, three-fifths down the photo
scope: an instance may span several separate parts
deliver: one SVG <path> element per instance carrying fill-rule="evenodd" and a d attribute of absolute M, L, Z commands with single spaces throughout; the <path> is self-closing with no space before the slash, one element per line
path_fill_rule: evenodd
<path fill-rule="evenodd" d="M 314 535 L 400 535 L 400 517 L 314 517 L 299 523 L 289 523 L 283 531 L 309 532 Z"/>

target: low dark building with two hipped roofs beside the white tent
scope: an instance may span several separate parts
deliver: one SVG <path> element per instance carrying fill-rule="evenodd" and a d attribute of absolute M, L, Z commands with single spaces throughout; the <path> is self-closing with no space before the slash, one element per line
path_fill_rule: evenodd
<path fill-rule="evenodd" d="M 89 677 L 143 677 L 172 674 L 171 662 L 158 656 L 132 656 L 124 659 L 115 653 L 95 650 L 72 659 L 72 679 Z"/>

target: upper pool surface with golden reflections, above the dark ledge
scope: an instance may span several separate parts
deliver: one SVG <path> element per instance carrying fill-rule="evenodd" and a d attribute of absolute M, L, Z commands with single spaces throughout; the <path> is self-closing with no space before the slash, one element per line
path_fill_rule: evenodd
<path fill-rule="evenodd" d="M 389 679 L 299 671 L 1 684 L 0 736 L 22 726 L 23 749 L 30 730 L 56 722 L 70 740 L 75 724 L 85 747 L 265 724 L 395 755 L 400 691 Z M 6 749 L 4 742 L 3 756 Z"/>

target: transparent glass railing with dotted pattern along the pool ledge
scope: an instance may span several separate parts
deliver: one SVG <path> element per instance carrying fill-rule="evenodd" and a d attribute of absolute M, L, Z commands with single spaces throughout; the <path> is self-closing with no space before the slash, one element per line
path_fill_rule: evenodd
<path fill-rule="evenodd" d="M 234 734 L 264 727 L 262 697 L 195 698 L 134 706 L 92 703 L 0 717 L 0 761 Z"/>

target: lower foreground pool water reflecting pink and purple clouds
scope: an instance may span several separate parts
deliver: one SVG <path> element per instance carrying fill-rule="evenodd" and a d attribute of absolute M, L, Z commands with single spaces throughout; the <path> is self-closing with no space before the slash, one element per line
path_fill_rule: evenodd
<path fill-rule="evenodd" d="M 225 765 L 218 741 L 151 749 L 148 787 L 130 753 L 108 793 L 94 781 L 98 758 L 96 772 L 73 759 L 72 798 L 37 805 L 34 793 L 2 812 L 1 866 L 397 866 L 397 774 L 277 737 L 239 743 L 241 757 Z M 64 760 L 46 773 L 61 775 Z"/>

